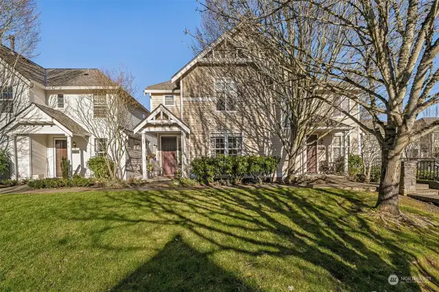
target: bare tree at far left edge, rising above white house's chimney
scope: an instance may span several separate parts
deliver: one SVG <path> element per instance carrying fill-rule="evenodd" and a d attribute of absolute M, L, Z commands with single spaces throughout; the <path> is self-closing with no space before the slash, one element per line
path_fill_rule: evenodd
<path fill-rule="evenodd" d="M 39 12 L 36 7 L 34 0 L 0 0 L 1 151 L 8 151 L 10 146 L 8 136 L 1 129 L 12 121 L 14 114 L 29 104 L 29 75 L 30 72 L 38 73 L 40 69 L 29 61 L 35 56 L 34 50 L 40 40 Z M 9 176 L 9 173 L 5 173 L 5 176 Z"/>

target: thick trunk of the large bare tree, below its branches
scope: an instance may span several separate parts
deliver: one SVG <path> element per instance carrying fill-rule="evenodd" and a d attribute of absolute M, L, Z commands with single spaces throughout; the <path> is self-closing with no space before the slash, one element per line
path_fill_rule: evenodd
<path fill-rule="evenodd" d="M 385 147 L 383 147 L 385 148 Z M 399 215 L 399 178 L 401 176 L 401 152 L 383 149 L 381 153 L 381 179 L 375 208 Z"/>

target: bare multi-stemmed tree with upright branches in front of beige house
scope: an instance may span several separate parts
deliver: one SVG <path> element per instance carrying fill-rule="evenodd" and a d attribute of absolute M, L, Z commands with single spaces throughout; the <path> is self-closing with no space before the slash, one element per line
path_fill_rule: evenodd
<path fill-rule="evenodd" d="M 263 21 L 250 20 L 249 15 L 255 9 L 259 13 L 268 12 L 276 1 L 244 2 L 203 3 L 206 9 L 202 14 L 202 27 L 219 28 L 213 35 L 209 29 L 204 34 L 197 31 L 194 37 L 200 42 L 198 47 L 206 48 L 206 41 L 214 40 L 217 32 L 228 31 L 223 38 L 217 39 L 220 42 L 207 47 L 213 49 L 213 53 L 204 58 L 204 64 L 209 65 L 203 66 L 204 71 L 209 71 L 203 75 L 206 78 L 204 84 L 215 88 L 207 80 L 233 80 L 232 84 L 236 85 L 227 91 L 236 91 L 230 95 L 237 101 L 233 101 L 233 114 L 228 114 L 227 120 L 246 121 L 244 125 L 248 129 L 251 125 L 257 127 L 252 132 L 263 133 L 261 136 L 265 140 L 273 141 L 276 137 L 281 141 L 288 162 L 287 176 L 290 177 L 300 173 L 296 163 L 298 156 L 307 143 L 313 143 L 307 141 L 307 135 L 319 127 L 335 127 L 343 121 L 338 119 L 337 123 L 331 124 L 333 110 L 325 101 L 315 98 L 316 95 L 329 98 L 327 92 L 313 86 L 314 82 L 303 77 L 302 71 L 315 66 L 315 59 L 332 62 L 340 47 L 325 48 L 329 40 L 344 38 L 344 28 L 334 29 L 322 21 L 304 19 L 302 15 L 319 15 L 322 10 L 300 2 L 283 6 Z M 246 21 L 241 22 L 243 19 Z M 230 30 L 229 27 L 234 28 Z M 215 96 L 215 92 L 205 96 Z M 338 105 L 351 111 L 355 105 L 348 108 L 347 100 L 337 99 Z M 242 119 L 250 118 L 249 112 L 251 119 Z M 328 132 L 320 137 L 326 134 Z"/>

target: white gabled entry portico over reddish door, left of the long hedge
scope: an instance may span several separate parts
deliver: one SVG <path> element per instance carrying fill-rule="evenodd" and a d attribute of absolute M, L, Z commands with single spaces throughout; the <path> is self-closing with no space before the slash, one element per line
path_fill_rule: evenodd
<path fill-rule="evenodd" d="M 187 175 L 190 157 L 189 149 L 191 130 L 168 108 L 160 104 L 148 114 L 141 123 L 134 127 L 134 134 L 142 135 L 142 176 L 147 178 L 147 139 L 146 134 L 157 137 L 156 159 L 159 161 L 163 175 L 173 175 L 181 167 L 182 175 Z M 189 142 L 188 142 L 189 141 Z"/>

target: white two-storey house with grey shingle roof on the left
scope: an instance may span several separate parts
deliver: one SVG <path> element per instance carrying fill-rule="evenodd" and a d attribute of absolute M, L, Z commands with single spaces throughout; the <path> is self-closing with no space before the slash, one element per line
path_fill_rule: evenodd
<path fill-rule="evenodd" d="M 71 174 L 88 176 L 86 162 L 105 155 L 109 125 L 103 119 L 106 93 L 98 69 L 47 69 L 14 52 L 0 48 L 3 80 L 0 98 L 0 148 L 8 149 L 10 171 L 3 178 L 55 178 L 62 175 L 60 162 L 67 158 Z M 6 73 L 5 73 L 6 72 Z M 127 114 L 126 126 L 117 129 L 123 141 L 119 177 L 141 176 L 141 135 L 134 125 L 150 112 L 133 97 L 134 106 Z M 80 114 L 82 112 L 82 114 Z M 99 125 L 91 128 L 91 121 Z M 143 150 L 152 152 L 154 136 Z M 144 166 L 145 167 L 145 166 Z"/>

